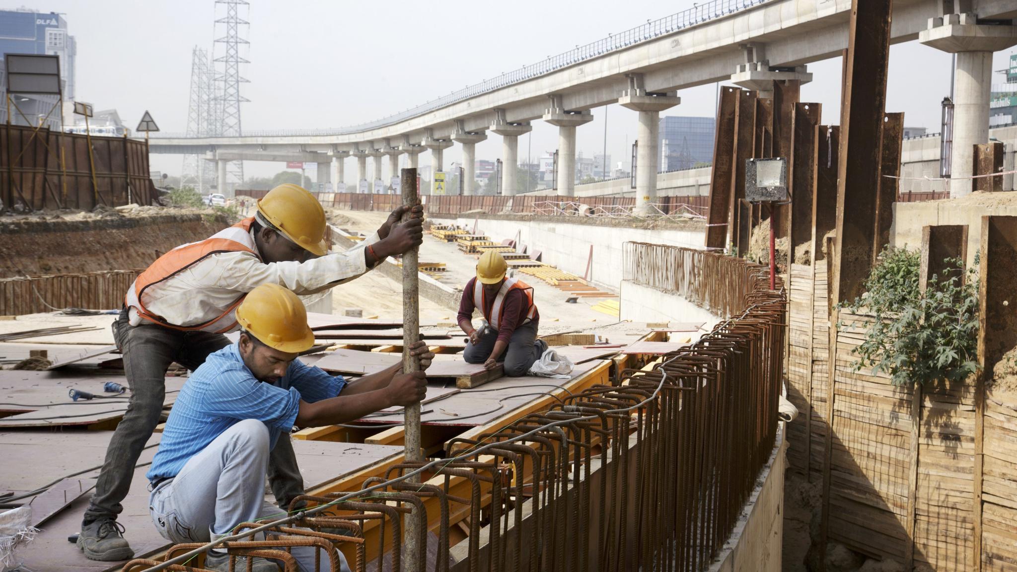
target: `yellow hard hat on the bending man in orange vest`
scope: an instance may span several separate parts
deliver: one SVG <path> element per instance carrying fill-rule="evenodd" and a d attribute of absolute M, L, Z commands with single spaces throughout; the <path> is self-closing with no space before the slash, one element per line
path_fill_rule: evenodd
<path fill-rule="evenodd" d="M 257 212 L 303 249 L 325 253 L 324 209 L 306 188 L 281 184 L 258 199 Z"/>

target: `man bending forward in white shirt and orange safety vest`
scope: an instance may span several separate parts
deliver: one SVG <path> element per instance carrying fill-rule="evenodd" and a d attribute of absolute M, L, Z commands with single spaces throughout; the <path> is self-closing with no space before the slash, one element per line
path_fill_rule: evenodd
<path fill-rule="evenodd" d="M 85 510 L 77 546 L 92 560 L 133 557 L 117 515 L 134 465 L 159 423 L 166 371 L 176 361 L 190 370 L 228 345 L 238 330 L 236 308 L 248 292 L 278 284 L 299 295 L 352 280 L 423 240 L 423 209 L 392 212 L 377 233 L 346 252 L 325 249 L 325 216 L 306 189 L 283 184 L 257 203 L 253 217 L 210 238 L 166 252 L 127 291 L 113 324 L 131 395 L 107 448 L 96 492 Z M 268 479 L 281 506 L 303 494 L 303 478 L 289 439 L 273 449 Z"/>

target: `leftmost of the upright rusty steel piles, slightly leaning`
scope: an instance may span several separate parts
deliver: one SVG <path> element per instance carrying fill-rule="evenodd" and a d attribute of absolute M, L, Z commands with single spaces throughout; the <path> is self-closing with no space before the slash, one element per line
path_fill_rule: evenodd
<path fill-rule="evenodd" d="M 710 211 L 707 216 L 706 246 L 727 246 L 727 219 L 730 211 L 731 178 L 734 167 L 734 115 L 741 90 L 724 87 L 720 90 L 717 108 L 717 128 L 714 136 L 713 168 L 710 170 Z"/>

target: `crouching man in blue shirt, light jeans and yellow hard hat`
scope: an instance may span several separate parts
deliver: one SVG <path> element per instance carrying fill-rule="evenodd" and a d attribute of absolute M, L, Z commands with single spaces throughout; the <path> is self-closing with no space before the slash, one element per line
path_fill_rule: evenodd
<path fill-rule="evenodd" d="M 206 542 L 242 522 L 273 516 L 264 502 L 268 456 L 294 426 L 345 423 L 424 398 L 423 371 L 401 365 L 347 383 L 297 355 L 314 344 L 307 312 L 293 292 L 276 284 L 252 290 L 237 308 L 240 340 L 207 357 L 184 384 L 146 474 L 152 519 L 174 542 Z M 422 368 L 434 356 L 424 342 L 411 347 Z M 294 549 L 301 570 L 314 570 L 314 549 Z M 247 562 L 238 558 L 237 570 Z M 276 572 L 263 559 L 255 572 Z M 227 570 L 226 552 L 210 550 L 205 568 Z M 348 568 L 344 568 L 348 569 Z"/>

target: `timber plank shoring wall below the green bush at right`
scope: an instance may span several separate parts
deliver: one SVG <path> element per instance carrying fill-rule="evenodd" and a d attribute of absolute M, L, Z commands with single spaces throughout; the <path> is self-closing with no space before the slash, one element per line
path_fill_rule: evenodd
<path fill-rule="evenodd" d="M 898 562 L 910 553 L 916 570 L 977 569 L 974 381 L 916 392 L 870 367 L 855 371 L 853 350 L 874 319 L 841 309 L 830 391 L 826 262 L 818 262 L 815 275 L 812 267 L 793 265 L 790 282 L 788 399 L 799 414 L 788 426 L 788 466 L 814 483 L 830 471 L 829 539 Z M 1017 399 L 989 392 L 985 403 L 981 570 L 1013 570 Z"/>

